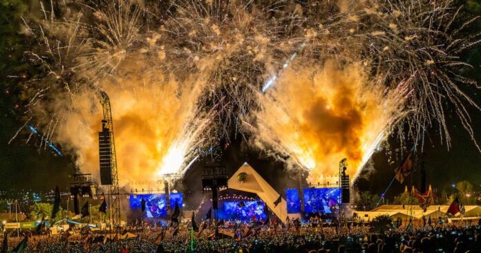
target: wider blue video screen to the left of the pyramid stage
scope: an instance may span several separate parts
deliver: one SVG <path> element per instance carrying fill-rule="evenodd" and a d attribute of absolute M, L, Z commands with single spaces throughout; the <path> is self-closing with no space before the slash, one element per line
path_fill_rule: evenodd
<path fill-rule="evenodd" d="M 131 209 L 142 207 L 142 198 L 145 200 L 144 217 L 154 218 L 167 215 L 167 200 L 164 194 L 138 194 L 130 197 Z"/>

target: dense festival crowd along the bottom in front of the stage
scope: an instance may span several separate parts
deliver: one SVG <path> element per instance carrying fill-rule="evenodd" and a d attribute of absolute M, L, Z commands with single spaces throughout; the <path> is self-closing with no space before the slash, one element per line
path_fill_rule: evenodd
<path fill-rule="evenodd" d="M 102 233 L 93 232 L 78 232 L 68 237 L 32 235 L 23 252 L 481 252 L 479 223 L 463 221 L 399 228 L 393 223 L 384 232 L 375 232 L 366 224 L 224 223 L 217 237 L 211 224 L 200 224 L 197 232 L 189 224 L 144 226 L 125 229 L 124 233 L 133 232 L 138 236 L 113 243 L 104 239 Z M 8 252 L 21 240 L 22 236 L 9 236 Z"/>

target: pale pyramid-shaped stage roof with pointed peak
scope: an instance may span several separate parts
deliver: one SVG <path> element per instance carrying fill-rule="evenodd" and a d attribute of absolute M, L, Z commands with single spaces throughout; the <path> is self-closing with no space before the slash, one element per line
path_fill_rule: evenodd
<path fill-rule="evenodd" d="M 243 181 L 237 179 L 238 174 L 247 174 Z M 247 191 L 257 194 L 269 209 L 284 222 L 287 218 L 287 203 L 281 198 L 281 203 L 274 207 L 274 202 L 281 196 L 261 177 L 250 165 L 245 162 L 227 182 L 230 189 Z"/>

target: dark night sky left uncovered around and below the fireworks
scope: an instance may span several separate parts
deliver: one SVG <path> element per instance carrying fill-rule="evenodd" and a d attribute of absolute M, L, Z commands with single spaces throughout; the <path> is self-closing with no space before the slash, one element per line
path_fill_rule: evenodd
<path fill-rule="evenodd" d="M 2 16 L 0 16 L 2 22 L 0 28 L 13 27 L 13 31 L 10 32 L 0 29 L 3 30 L 3 34 L 0 34 L 0 37 L 3 37 L 0 50 L 4 50 L 0 52 L 2 62 L 4 62 L 0 69 L 0 188 L 48 190 L 54 189 L 56 185 L 68 187 L 71 180 L 69 175 L 75 171 L 75 158 L 68 154 L 62 157 L 57 156 L 48 148 L 38 148 L 39 140 L 35 136 L 32 136 L 30 142 L 26 143 L 30 133 L 27 129 L 23 129 L 19 136 L 8 144 L 17 129 L 23 124 L 21 118 L 23 109 L 21 105 L 18 106 L 17 99 L 20 93 L 15 89 L 16 82 L 21 82 L 21 80 L 8 77 L 12 73 L 19 72 L 18 70 L 21 71 L 21 66 L 16 69 L 13 69 L 12 66 L 21 65 L 21 56 L 19 55 L 21 55 L 22 50 L 21 46 L 12 45 L 21 45 L 26 42 L 22 40 L 23 38 L 20 35 L 16 35 L 15 26 L 17 24 L 8 23 L 10 19 L 15 18 L 8 16 L 10 15 L 6 14 L 8 11 L 6 9 L 1 10 Z M 5 37 L 6 35 L 9 37 Z M 15 52 L 17 52 L 17 56 L 15 56 Z M 474 66 L 473 70 L 465 71 L 464 75 L 476 79 L 478 85 L 481 84 L 480 52 L 481 50 L 478 47 L 463 56 L 466 62 Z M 5 62 L 8 62 L 8 64 L 5 64 Z M 471 95 L 477 104 L 481 104 L 480 90 L 466 88 L 465 91 Z M 437 126 L 427 131 L 428 136 L 426 136 L 423 150 L 427 182 L 438 191 L 449 188 L 453 182 L 460 180 L 469 180 L 473 185 L 480 187 L 481 153 L 456 118 L 449 104 L 446 104 L 445 108 L 446 121 L 451 133 L 451 149 L 448 150 L 446 143 L 440 142 Z M 113 117 L 115 118 L 115 109 L 113 111 Z M 469 111 L 471 111 L 471 126 L 475 131 L 475 138 L 481 144 L 481 113 L 471 107 L 469 107 Z M 413 142 L 406 140 L 404 147 L 400 147 L 399 140 L 395 136 L 391 136 L 388 143 L 392 153 L 388 154 L 386 150 L 375 153 L 372 157 L 372 166 L 375 171 L 363 174 L 362 178 L 356 182 L 359 189 L 371 190 L 375 193 L 384 191 L 390 178 L 393 177 L 393 169 L 399 166 L 400 160 L 402 160 L 402 154 L 399 150 L 403 149 L 404 154 L 406 154 L 406 150 L 410 149 Z M 62 149 L 62 147 L 60 148 Z M 392 162 L 388 162 L 388 160 Z M 272 158 L 264 158 L 263 153 L 259 153 L 259 151 L 247 149 L 247 145 L 241 137 L 234 138 L 232 144 L 223 151 L 221 160 L 214 162 L 214 164 L 225 165 L 227 171 L 232 174 L 246 161 L 278 191 L 283 191 L 286 187 L 297 187 L 299 185 L 297 178 L 290 178 L 284 173 L 282 163 L 276 162 Z M 211 161 L 208 158 L 197 162 L 187 172 L 187 176 L 183 180 L 184 189 L 200 189 L 199 176 L 202 174 L 202 167 L 210 164 Z M 338 165 L 332 166 L 337 167 Z M 146 175 L 147 177 L 149 175 Z M 413 182 L 419 185 L 419 174 L 415 174 L 413 178 Z M 395 182 L 388 192 L 388 196 L 392 197 L 399 194 L 402 189 L 404 189 L 404 186 Z"/>

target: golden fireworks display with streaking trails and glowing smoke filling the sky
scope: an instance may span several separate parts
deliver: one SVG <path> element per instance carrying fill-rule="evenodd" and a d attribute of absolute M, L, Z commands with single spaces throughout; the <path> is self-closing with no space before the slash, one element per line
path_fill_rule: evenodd
<path fill-rule="evenodd" d="M 462 37 L 453 1 L 40 1 L 22 17 L 37 45 L 26 122 L 97 171 L 96 103 L 113 97 L 120 176 L 185 173 L 202 150 L 240 133 L 308 169 L 318 182 L 342 158 L 359 175 L 398 133 L 422 141 L 440 127 L 443 104 L 474 140 L 460 87 Z M 408 135 L 403 129 L 408 127 Z M 37 127 L 38 129 L 38 127 Z M 117 138 L 117 136 L 119 136 Z M 214 148 L 214 150 L 218 150 Z M 122 161 L 124 158 L 124 161 Z"/>

